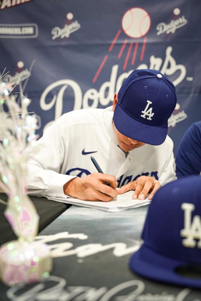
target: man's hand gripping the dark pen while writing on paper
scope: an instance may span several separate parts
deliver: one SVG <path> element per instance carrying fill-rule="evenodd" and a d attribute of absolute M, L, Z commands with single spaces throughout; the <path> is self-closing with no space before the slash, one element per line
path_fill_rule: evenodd
<path fill-rule="evenodd" d="M 110 186 L 105 185 L 110 183 Z M 63 191 L 70 197 L 77 197 L 86 201 L 108 202 L 117 196 L 117 181 L 114 175 L 94 172 L 84 178 L 73 178 L 63 185 Z"/>

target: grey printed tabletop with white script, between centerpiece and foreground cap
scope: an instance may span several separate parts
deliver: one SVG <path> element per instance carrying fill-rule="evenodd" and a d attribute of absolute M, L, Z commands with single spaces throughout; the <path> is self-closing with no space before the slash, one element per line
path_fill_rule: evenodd
<path fill-rule="evenodd" d="M 150 281 L 129 269 L 148 206 L 117 213 L 71 206 L 36 238 L 52 249 L 53 271 L 40 284 L 6 288 L 8 301 L 201 301 L 201 291 Z"/>

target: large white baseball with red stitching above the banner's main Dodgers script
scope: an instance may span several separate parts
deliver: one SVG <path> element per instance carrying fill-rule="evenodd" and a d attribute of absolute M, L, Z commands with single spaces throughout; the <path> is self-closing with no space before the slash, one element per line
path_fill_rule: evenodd
<path fill-rule="evenodd" d="M 148 33 L 151 26 L 151 18 L 144 9 L 134 7 L 123 15 L 121 25 L 127 36 L 141 38 Z"/>

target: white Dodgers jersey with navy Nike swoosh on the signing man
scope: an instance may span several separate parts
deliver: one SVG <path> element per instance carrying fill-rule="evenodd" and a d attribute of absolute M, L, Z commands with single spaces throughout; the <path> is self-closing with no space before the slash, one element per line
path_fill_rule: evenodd
<path fill-rule="evenodd" d="M 141 175 L 154 176 L 161 185 L 176 179 L 172 140 L 167 136 L 161 145 L 145 144 L 126 157 L 117 145 L 111 108 L 65 113 L 44 131 L 27 164 L 30 194 L 64 197 L 66 182 L 97 172 L 90 156 L 116 177 L 118 187 Z"/>

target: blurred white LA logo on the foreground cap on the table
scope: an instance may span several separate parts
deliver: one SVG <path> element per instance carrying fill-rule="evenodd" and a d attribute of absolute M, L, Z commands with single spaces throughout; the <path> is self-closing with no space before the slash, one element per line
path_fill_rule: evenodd
<path fill-rule="evenodd" d="M 201 219 L 199 215 L 193 217 L 191 223 L 191 213 L 195 206 L 191 203 L 181 204 L 181 209 L 184 210 L 184 229 L 180 231 L 181 237 L 186 237 L 182 240 L 182 244 L 187 248 L 201 248 Z M 199 240 L 198 243 L 196 239 Z"/>

